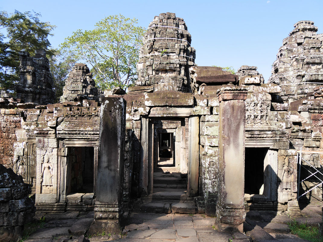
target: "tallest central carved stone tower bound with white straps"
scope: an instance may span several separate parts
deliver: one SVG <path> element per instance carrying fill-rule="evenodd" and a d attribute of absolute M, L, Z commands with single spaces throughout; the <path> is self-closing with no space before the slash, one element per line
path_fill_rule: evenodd
<path fill-rule="evenodd" d="M 137 64 L 137 86 L 154 91 L 191 92 L 189 68 L 194 66 L 195 49 L 182 18 L 173 13 L 155 16 L 144 37 Z"/>

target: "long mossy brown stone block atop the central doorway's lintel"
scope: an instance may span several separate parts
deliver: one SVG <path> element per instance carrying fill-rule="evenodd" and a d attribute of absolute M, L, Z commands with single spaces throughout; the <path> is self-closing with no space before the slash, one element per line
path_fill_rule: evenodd
<path fill-rule="evenodd" d="M 192 93 L 177 91 L 157 91 L 146 93 L 146 106 L 193 106 L 194 96 Z"/>

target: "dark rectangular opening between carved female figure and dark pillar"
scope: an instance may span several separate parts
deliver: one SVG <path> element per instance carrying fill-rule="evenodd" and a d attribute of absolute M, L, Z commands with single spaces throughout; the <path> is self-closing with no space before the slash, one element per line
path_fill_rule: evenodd
<path fill-rule="evenodd" d="M 94 193 L 94 147 L 68 147 L 67 194 Z"/>

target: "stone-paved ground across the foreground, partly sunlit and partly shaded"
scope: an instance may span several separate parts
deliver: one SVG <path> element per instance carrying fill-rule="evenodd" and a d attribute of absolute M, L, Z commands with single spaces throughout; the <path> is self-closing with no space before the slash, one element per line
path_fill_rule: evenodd
<path fill-rule="evenodd" d="M 303 217 L 295 217 L 295 220 L 318 227 L 322 222 L 322 207 L 323 203 L 309 204 L 302 210 Z M 307 241 L 290 234 L 287 222 L 291 218 L 286 212 L 247 212 L 244 225 L 246 235 L 237 231 L 216 231 L 215 218 L 204 214 L 132 213 L 122 235 L 106 234 L 104 231 L 86 235 L 93 221 L 93 212 L 36 214 L 34 221 L 39 221 L 43 216 L 43 227 L 31 234 L 26 242 Z"/>

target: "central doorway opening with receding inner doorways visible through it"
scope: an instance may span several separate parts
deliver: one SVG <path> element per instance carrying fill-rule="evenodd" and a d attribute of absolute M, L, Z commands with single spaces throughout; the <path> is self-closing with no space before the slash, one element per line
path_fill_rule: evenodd
<path fill-rule="evenodd" d="M 163 194 L 163 199 L 173 194 L 184 195 L 187 193 L 185 121 L 155 119 L 153 124 L 153 195 Z"/>

